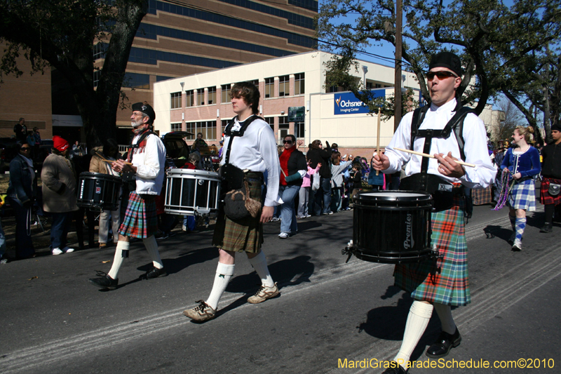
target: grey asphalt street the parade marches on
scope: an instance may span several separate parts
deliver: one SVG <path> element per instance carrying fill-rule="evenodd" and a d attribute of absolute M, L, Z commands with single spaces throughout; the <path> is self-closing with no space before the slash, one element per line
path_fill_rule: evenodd
<path fill-rule="evenodd" d="M 424 351 L 440 332 L 434 314 L 412 359 L 444 367 L 410 373 L 561 373 L 561 227 L 539 233 L 539 204 L 527 224 L 515 253 L 506 208 L 475 207 L 466 226 L 472 302 L 452 311 L 463 340 L 442 362 L 428 359 Z M 393 265 L 345 263 L 352 211 L 298 225 L 289 239 L 278 238 L 278 223 L 265 225 L 263 248 L 280 297 L 249 304 L 259 278 L 238 255 L 217 318 L 203 324 L 182 311 L 212 288 L 212 231 L 161 241 L 170 275 L 150 281 L 140 279 L 149 255 L 133 243 L 112 291 L 88 278 L 109 271 L 103 262 L 114 248 L 3 265 L 0 372 L 381 373 L 376 366 L 398 351 L 412 303 L 393 286 Z M 489 368 L 473 368 L 484 361 Z"/>

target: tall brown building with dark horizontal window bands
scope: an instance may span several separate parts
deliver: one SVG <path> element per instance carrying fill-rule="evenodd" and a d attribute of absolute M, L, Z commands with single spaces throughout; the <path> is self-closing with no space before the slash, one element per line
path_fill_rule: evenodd
<path fill-rule="evenodd" d="M 317 13 L 315 0 L 149 0 L 123 82 L 126 102 L 151 102 L 165 79 L 311 51 Z M 97 65 L 103 50 L 95 48 Z M 116 124 L 130 128 L 130 112 L 119 111 Z"/>

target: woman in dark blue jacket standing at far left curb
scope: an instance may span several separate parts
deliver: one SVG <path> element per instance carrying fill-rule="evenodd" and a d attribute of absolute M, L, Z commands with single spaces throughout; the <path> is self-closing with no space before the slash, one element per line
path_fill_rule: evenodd
<path fill-rule="evenodd" d="M 15 213 L 15 248 L 17 258 L 35 254 L 31 237 L 31 216 L 36 195 L 36 176 L 31 159 L 32 147 L 27 143 L 16 145 L 18 156 L 10 162 L 8 201 Z"/>

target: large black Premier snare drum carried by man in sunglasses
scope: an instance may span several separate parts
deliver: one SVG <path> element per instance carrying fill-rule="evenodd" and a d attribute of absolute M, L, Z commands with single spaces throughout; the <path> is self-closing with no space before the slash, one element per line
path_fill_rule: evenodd
<path fill-rule="evenodd" d="M 410 191 L 365 192 L 353 206 L 349 250 L 370 262 L 420 262 L 431 256 L 429 194 Z"/>

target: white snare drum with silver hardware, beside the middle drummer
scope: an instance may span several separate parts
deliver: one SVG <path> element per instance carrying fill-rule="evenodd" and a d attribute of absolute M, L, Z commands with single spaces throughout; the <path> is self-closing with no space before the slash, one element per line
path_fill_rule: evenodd
<path fill-rule="evenodd" d="M 221 181 L 212 171 L 170 169 L 165 182 L 165 213 L 217 215 Z"/>

